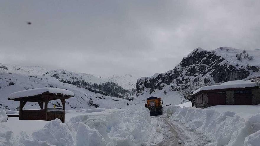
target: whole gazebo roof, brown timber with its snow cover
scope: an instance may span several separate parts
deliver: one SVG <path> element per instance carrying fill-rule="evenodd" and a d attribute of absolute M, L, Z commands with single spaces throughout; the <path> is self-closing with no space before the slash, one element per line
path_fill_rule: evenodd
<path fill-rule="evenodd" d="M 69 99 L 74 97 L 74 93 L 60 88 L 35 88 L 30 90 L 18 91 L 10 94 L 8 100 L 15 101 L 32 101 L 39 102 L 44 101 L 45 98 L 50 98 L 50 100 L 56 99 Z"/>

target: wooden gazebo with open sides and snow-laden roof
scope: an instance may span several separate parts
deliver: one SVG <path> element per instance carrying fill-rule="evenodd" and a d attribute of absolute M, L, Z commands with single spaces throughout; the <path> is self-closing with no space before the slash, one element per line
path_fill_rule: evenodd
<path fill-rule="evenodd" d="M 46 120 L 60 119 L 65 121 L 65 100 L 74 97 L 74 93 L 59 88 L 35 88 L 14 92 L 8 96 L 8 100 L 20 101 L 19 120 Z M 61 108 L 48 108 L 51 100 L 61 100 Z M 26 102 L 38 102 L 39 110 L 24 110 Z M 43 104 L 44 103 L 44 104 Z"/>

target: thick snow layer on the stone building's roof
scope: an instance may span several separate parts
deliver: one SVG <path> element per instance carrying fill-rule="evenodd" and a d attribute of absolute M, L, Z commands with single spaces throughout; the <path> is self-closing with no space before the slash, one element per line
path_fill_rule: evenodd
<path fill-rule="evenodd" d="M 243 80 L 237 80 L 237 81 L 229 81 L 222 83 L 220 85 L 213 85 L 213 86 L 204 86 L 199 88 L 198 90 L 194 91 L 192 95 L 198 93 L 199 91 L 203 90 L 216 90 L 216 89 L 226 89 L 226 88 L 246 88 L 246 87 L 256 87 L 255 82 L 251 82 L 251 80 L 243 81 Z"/>

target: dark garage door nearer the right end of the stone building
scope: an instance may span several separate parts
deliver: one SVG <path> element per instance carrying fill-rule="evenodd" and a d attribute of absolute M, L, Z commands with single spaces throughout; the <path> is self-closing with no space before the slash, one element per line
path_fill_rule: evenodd
<path fill-rule="evenodd" d="M 252 105 L 252 94 L 234 94 L 235 105 Z"/>

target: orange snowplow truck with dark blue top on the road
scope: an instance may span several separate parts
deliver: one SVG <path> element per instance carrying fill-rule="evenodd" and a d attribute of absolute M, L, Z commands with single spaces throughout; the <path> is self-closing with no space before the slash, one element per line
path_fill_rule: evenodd
<path fill-rule="evenodd" d="M 145 107 L 150 110 L 151 116 L 157 116 L 162 114 L 161 98 L 151 96 L 146 100 L 147 100 L 147 104 L 145 104 Z"/>

